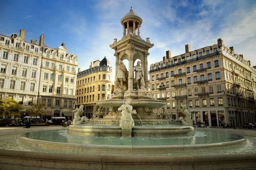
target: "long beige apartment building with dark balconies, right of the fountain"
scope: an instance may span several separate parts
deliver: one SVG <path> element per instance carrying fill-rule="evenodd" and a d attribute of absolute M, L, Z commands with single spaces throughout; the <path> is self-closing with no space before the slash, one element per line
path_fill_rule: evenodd
<path fill-rule="evenodd" d="M 173 119 L 186 104 L 194 122 L 240 126 L 256 120 L 255 68 L 222 39 L 194 51 L 187 44 L 184 54 L 171 57 L 166 51 L 162 61 L 150 65 L 150 91 L 166 102 Z"/>

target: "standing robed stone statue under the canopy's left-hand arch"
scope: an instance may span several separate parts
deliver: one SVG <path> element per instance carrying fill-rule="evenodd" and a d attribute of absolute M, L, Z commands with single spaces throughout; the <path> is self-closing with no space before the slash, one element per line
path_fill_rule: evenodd
<path fill-rule="evenodd" d="M 123 61 L 119 61 L 116 73 L 116 82 L 119 85 L 119 89 L 127 90 L 126 80 L 128 77 L 128 71 L 123 63 Z"/>

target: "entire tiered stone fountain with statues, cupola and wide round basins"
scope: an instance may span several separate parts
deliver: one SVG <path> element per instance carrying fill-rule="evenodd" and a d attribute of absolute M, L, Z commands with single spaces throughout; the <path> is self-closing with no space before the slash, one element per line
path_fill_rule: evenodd
<path fill-rule="evenodd" d="M 115 89 L 111 99 L 97 103 L 92 119 L 79 116 L 83 112 L 83 105 L 74 108 L 74 124 L 68 127 L 67 133 L 65 130 L 52 130 L 21 135 L 17 139 L 18 144 L 14 147 L 20 147 L 23 151 L 7 152 L 0 148 L 0 167 L 2 169 L 20 169 L 21 166 L 26 169 L 219 169 L 219 167 L 233 169 L 234 166 L 235 169 L 256 168 L 255 153 L 242 156 L 241 154 L 221 155 L 221 159 L 216 156 L 215 151 L 223 154 L 226 150 L 246 146 L 245 137 L 217 132 L 208 136 L 205 133 L 195 135 L 191 112 L 186 105 L 182 106 L 185 117 L 170 119 L 164 109 L 164 102 L 153 99 L 148 91 L 147 56 L 148 50 L 154 44 L 150 43 L 149 38 L 145 41 L 140 37 L 142 19 L 131 8 L 130 12 L 121 19 L 121 24 L 122 39 L 119 41 L 114 39 L 115 41 L 110 45 L 115 50 L 116 57 Z M 124 59 L 129 61 L 128 70 L 123 63 Z M 137 59 L 139 61 L 134 66 Z M 103 108 L 110 112 L 102 113 Z M 160 115 L 163 118 L 160 118 L 153 110 L 162 108 L 163 112 Z M 63 128 L 52 127 L 52 129 Z M 205 129 L 209 130 L 209 128 Z M 19 131 L 24 133 L 22 130 L 11 133 Z M 30 130 L 42 129 L 26 129 L 26 131 Z M 6 143 L 9 141 L 7 140 Z M 41 153 L 35 152 L 34 148 Z M 25 150 L 32 152 L 27 153 L 24 152 Z M 208 152 L 215 155 L 200 155 Z"/>

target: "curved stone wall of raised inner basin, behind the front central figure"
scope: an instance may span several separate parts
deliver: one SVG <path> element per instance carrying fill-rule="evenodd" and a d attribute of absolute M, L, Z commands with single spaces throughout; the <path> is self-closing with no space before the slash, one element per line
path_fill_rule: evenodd
<path fill-rule="evenodd" d="M 68 134 L 78 136 L 122 136 L 119 126 L 104 125 L 71 125 Z M 193 136 L 195 130 L 190 126 L 135 126 L 132 136 L 138 137 L 166 137 L 166 136 Z"/>

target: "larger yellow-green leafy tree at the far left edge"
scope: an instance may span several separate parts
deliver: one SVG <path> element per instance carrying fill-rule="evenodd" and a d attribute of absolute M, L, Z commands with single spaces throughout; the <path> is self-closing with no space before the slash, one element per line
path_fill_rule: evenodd
<path fill-rule="evenodd" d="M 20 110 L 24 108 L 13 99 L 0 100 L 0 116 L 5 118 L 21 117 Z"/>

